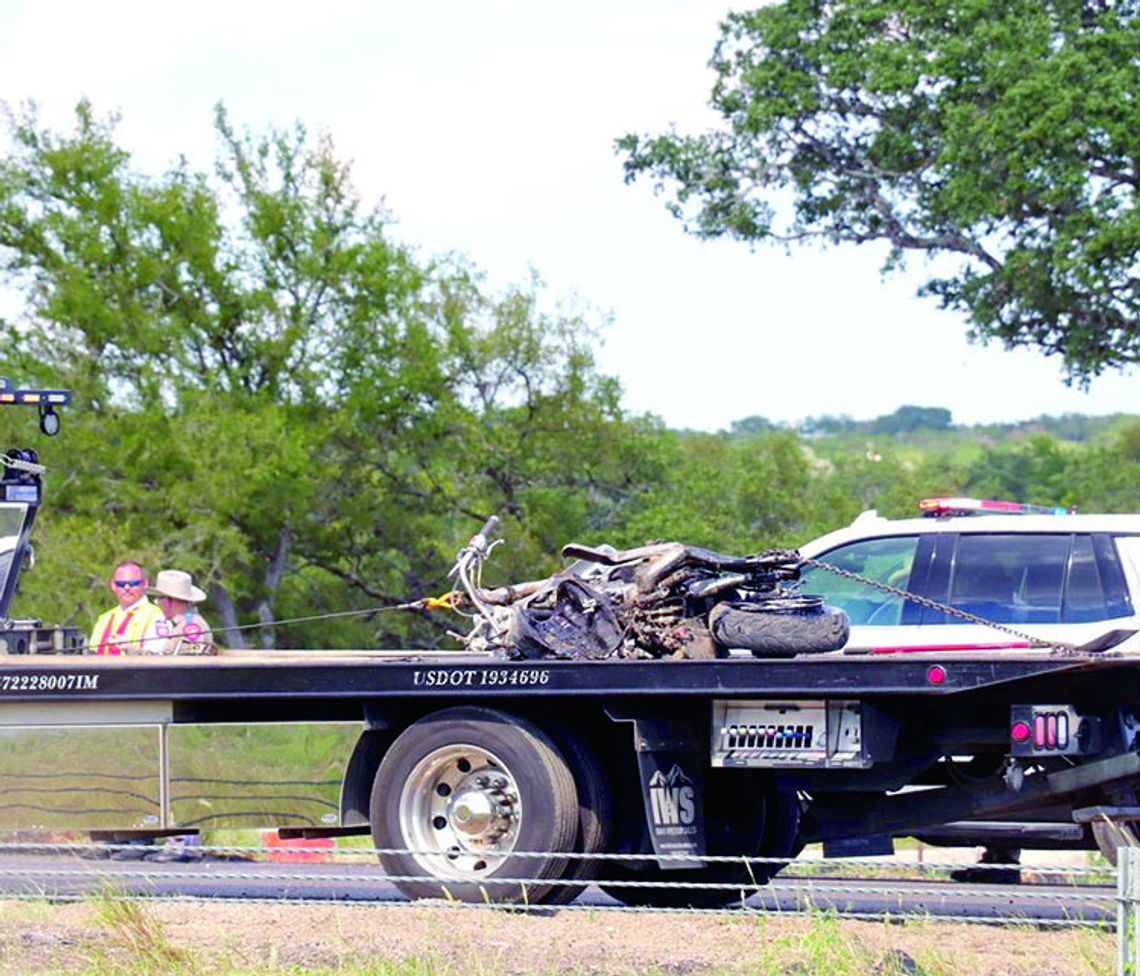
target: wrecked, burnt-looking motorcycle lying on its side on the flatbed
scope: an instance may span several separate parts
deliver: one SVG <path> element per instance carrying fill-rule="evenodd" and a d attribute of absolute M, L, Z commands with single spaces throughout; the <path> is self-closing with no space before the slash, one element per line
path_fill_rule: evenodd
<path fill-rule="evenodd" d="M 787 658 L 841 648 L 847 615 L 799 592 L 793 550 L 725 555 L 681 543 L 630 550 L 571 543 L 565 569 L 544 579 L 484 587 L 500 545 L 492 517 L 456 559 L 466 594 L 467 650 L 500 659 L 718 658 L 734 650 Z"/>

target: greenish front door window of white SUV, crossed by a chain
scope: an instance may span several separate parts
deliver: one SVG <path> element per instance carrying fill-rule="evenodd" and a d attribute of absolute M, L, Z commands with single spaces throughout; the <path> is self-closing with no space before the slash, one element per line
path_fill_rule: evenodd
<path fill-rule="evenodd" d="M 863 539 L 831 550 L 817 559 L 838 569 L 905 589 L 918 542 L 918 536 Z M 822 593 L 828 603 L 847 613 L 852 624 L 890 626 L 901 621 L 904 602 L 901 596 L 891 596 L 865 583 L 844 579 L 812 567 L 803 571 L 801 578 L 804 593 Z"/>

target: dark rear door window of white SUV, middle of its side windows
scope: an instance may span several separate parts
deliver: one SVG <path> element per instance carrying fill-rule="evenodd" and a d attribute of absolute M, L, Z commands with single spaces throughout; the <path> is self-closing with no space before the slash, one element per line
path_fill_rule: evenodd
<path fill-rule="evenodd" d="M 962 535 L 951 607 L 997 624 L 1057 624 L 1072 536 Z"/>

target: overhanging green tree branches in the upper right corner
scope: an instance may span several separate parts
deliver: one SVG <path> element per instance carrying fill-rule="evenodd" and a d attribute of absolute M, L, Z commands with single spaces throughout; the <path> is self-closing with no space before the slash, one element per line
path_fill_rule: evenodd
<path fill-rule="evenodd" d="M 784 0 L 712 66 L 719 129 L 618 141 L 691 230 L 947 255 L 923 292 L 974 336 L 1140 361 L 1135 0 Z"/>

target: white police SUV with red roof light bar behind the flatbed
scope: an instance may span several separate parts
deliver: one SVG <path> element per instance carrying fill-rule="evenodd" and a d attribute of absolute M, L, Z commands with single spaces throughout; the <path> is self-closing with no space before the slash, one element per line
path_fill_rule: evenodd
<path fill-rule="evenodd" d="M 919 509 L 917 519 L 864 512 L 800 546 L 804 556 L 910 594 L 805 568 L 804 591 L 850 618 L 848 650 L 1001 651 L 1140 629 L 1140 515 L 975 498 L 927 498 Z"/>

